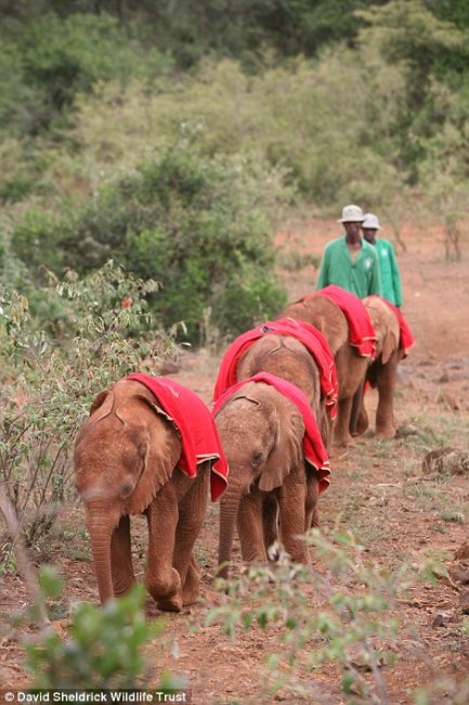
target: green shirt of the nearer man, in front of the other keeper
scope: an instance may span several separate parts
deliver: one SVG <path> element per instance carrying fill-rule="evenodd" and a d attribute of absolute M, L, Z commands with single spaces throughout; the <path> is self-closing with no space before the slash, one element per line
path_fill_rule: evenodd
<path fill-rule="evenodd" d="M 375 247 L 362 240 L 357 257 L 352 260 L 346 236 L 331 240 L 324 248 L 316 290 L 337 284 L 364 298 L 369 294 L 381 295 L 378 255 Z"/>

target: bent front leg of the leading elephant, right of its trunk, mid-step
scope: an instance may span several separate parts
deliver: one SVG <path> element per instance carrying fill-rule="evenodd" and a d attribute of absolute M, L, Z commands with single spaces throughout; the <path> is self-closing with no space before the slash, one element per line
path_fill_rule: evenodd
<path fill-rule="evenodd" d="M 147 510 L 148 566 L 145 585 L 159 610 L 180 612 L 181 578 L 172 567 L 175 529 L 179 521 L 178 497 L 172 480 L 156 495 Z"/>

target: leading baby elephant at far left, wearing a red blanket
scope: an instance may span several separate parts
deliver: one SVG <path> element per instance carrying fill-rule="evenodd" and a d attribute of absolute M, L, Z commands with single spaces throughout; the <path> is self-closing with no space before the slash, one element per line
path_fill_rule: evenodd
<path fill-rule="evenodd" d="M 210 469 L 213 470 L 210 473 Z M 225 486 L 226 465 L 206 405 L 167 377 L 133 374 L 95 398 L 75 444 L 101 603 L 134 582 L 130 521 L 148 524 L 145 584 L 160 610 L 198 595 L 193 547 L 207 504 Z"/>

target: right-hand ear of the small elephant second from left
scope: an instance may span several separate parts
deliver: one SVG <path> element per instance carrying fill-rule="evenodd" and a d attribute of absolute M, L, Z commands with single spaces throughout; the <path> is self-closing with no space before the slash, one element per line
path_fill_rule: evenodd
<path fill-rule="evenodd" d="M 281 487 L 294 467 L 303 462 L 304 422 L 297 407 L 276 393 L 278 403 L 272 412 L 275 444 L 259 480 L 259 489 L 270 492 Z"/>

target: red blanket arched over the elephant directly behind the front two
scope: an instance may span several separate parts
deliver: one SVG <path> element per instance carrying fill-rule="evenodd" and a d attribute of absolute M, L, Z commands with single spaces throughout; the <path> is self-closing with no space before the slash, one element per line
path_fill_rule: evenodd
<path fill-rule="evenodd" d="M 223 356 L 213 390 L 213 401 L 229 387 L 237 382 L 236 368 L 246 350 L 263 335 L 291 335 L 297 338 L 313 356 L 320 372 L 321 394 L 331 419 L 337 414 L 337 370 L 333 354 L 324 335 L 313 325 L 292 318 L 279 318 L 265 321 L 243 335 L 239 335 Z"/>

